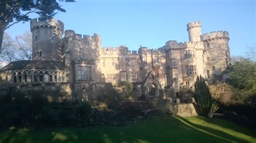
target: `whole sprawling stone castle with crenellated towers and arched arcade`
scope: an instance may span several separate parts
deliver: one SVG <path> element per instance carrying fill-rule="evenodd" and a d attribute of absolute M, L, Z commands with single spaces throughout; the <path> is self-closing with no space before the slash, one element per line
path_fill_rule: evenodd
<path fill-rule="evenodd" d="M 64 24 L 55 19 L 32 19 L 30 30 L 33 59 L 2 68 L 4 85 L 58 85 L 72 92 L 128 81 L 136 89 L 144 87 L 148 96 L 159 96 L 160 89 L 173 87 L 178 92 L 181 85 L 191 87 L 198 75 L 210 79 L 231 64 L 228 32 L 202 35 L 200 22 L 187 24 L 187 42 L 170 40 L 161 48 L 140 46 L 138 51 L 102 47 L 98 34 L 64 31 Z"/>

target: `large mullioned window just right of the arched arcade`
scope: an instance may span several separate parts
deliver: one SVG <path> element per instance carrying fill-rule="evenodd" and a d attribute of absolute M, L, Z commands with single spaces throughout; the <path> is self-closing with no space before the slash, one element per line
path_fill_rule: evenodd
<path fill-rule="evenodd" d="M 78 66 L 78 80 L 92 80 L 92 67 Z"/>

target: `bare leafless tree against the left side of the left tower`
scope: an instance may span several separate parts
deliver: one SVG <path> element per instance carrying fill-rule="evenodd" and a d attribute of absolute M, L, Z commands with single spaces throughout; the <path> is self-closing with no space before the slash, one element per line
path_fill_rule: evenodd
<path fill-rule="evenodd" d="M 32 33 L 25 31 L 24 34 L 15 37 L 19 57 L 22 60 L 32 59 Z"/>

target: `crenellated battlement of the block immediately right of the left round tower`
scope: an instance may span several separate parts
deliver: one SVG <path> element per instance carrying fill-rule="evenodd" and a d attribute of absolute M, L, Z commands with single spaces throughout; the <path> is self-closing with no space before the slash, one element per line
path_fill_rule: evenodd
<path fill-rule="evenodd" d="M 82 35 L 82 34 L 77 34 L 73 30 L 66 30 L 65 31 L 65 36 L 64 39 L 67 40 L 79 40 L 83 42 L 87 42 L 89 44 L 92 43 L 98 43 L 101 42 L 101 38 L 99 34 L 94 33 L 92 36 L 90 35 Z"/>

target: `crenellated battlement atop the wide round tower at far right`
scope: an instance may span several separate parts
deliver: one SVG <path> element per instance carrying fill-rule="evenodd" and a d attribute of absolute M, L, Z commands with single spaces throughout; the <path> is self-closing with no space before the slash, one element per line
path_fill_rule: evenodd
<path fill-rule="evenodd" d="M 214 38 L 228 38 L 228 32 L 226 31 L 214 31 L 210 33 L 205 33 L 200 36 L 201 40 L 209 40 L 209 39 L 214 39 Z M 228 38 L 229 39 L 229 38 Z"/>

